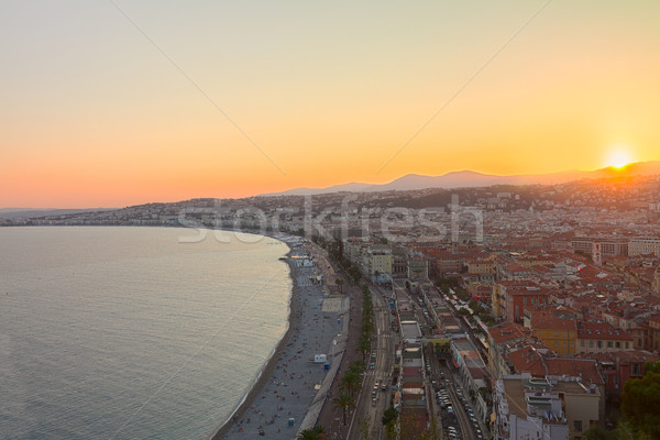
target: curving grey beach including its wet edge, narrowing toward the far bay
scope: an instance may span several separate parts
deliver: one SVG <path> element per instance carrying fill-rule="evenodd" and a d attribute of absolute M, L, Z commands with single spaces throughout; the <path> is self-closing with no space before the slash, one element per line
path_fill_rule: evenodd
<path fill-rule="evenodd" d="M 228 232 L 254 235 L 245 231 Z M 316 264 L 320 254 L 307 239 L 270 233 L 262 237 L 280 241 L 288 248 L 286 254 L 279 254 L 283 255 L 279 260 L 289 267 L 292 279 L 288 327 L 235 407 L 223 417 L 224 420 L 211 425 L 204 435 L 206 438 L 234 440 L 266 436 L 289 440 L 295 437 L 310 405 L 318 402 L 317 391 L 328 376 L 323 363 L 311 362 L 311 359 L 315 354 L 327 354 L 330 361 L 331 352 L 340 354 L 339 346 L 336 353 L 332 341 L 341 336 L 342 314 L 348 309 L 340 312 L 339 298 L 329 298 L 326 284 L 317 282 L 320 274 L 328 275 L 326 279 L 331 280 L 333 271 L 326 272 L 327 265 Z M 243 416 L 245 421 L 241 419 Z M 318 415 L 314 420 L 317 418 Z M 264 430 L 267 435 L 262 433 Z"/>

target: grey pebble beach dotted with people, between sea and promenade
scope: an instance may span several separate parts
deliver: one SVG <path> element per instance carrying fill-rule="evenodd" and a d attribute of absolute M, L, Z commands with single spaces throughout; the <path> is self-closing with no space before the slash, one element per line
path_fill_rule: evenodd
<path fill-rule="evenodd" d="M 322 407 L 326 392 L 333 382 L 346 340 L 348 322 L 344 324 L 342 315 L 348 310 L 349 301 L 329 298 L 328 287 L 314 282 L 321 271 L 324 276 L 332 276 L 324 260 L 321 264 L 305 265 L 304 255 L 314 256 L 315 263 L 318 262 L 318 248 L 289 245 L 294 293 L 288 339 L 274 354 L 242 410 L 213 439 L 295 438 L 310 408 L 307 424 L 314 426 L 314 413 L 318 414 Z M 337 342 L 334 346 L 333 340 Z M 315 354 L 326 354 L 334 369 L 327 371 L 322 364 L 310 363 Z M 293 426 L 289 426 L 289 419 L 294 420 Z"/>

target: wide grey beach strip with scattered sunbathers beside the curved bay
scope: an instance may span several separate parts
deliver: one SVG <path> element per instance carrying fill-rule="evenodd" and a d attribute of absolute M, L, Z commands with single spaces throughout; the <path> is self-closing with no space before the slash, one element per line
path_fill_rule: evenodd
<path fill-rule="evenodd" d="M 314 248 L 287 244 L 293 278 L 289 328 L 244 402 L 213 440 L 253 439 L 260 432 L 268 439 L 292 439 L 317 394 L 314 386 L 327 374 L 322 365 L 310 364 L 309 358 L 326 353 L 332 361 L 330 346 L 343 321 L 338 321 L 336 312 L 322 310 L 324 289 L 308 279 L 318 268 L 298 266 L 292 258 L 302 252 L 314 255 Z M 289 418 L 295 420 L 293 427 Z"/>

